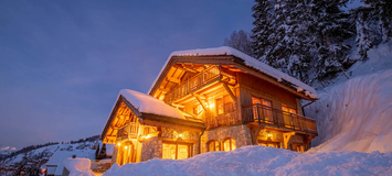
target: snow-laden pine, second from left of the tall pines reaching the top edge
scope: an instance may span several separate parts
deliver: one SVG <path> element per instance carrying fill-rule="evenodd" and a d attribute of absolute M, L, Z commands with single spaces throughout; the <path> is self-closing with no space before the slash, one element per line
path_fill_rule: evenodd
<path fill-rule="evenodd" d="M 311 35 L 308 33 L 309 16 L 304 0 L 280 0 L 275 6 L 275 32 L 271 64 L 283 72 L 308 82 L 311 61 Z"/>

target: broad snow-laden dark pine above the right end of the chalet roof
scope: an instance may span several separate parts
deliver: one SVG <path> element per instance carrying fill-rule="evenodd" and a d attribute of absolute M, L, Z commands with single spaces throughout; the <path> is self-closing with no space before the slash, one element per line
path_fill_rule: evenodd
<path fill-rule="evenodd" d="M 341 72 L 342 65 L 350 65 L 348 56 L 351 46 L 345 40 L 352 37 L 350 14 L 340 10 L 347 0 L 309 0 L 307 15 L 310 18 L 308 33 L 312 35 L 314 59 L 311 79 L 322 80 Z"/>

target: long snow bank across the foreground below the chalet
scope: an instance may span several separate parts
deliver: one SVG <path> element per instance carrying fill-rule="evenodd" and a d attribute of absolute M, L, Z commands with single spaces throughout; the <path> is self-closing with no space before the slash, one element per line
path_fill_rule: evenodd
<path fill-rule="evenodd" d="M 210 152 L 171 161 L 113 165 L 103 176 L 117 175 L 390 175 L 392 153 L 297 153 L 264 146 L 244 146 L 232 152 Z"/>

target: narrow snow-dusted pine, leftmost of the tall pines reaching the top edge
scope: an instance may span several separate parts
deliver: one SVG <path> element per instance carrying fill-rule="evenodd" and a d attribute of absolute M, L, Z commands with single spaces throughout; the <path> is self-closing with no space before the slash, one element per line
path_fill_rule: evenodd
<path fill-rule="evenodd" d="M 261 62 L 266 62 L 266 57 L 272 50 L 269 36 L 273 33 L 272 23 L 274 15 L 274 7 L 272 0 L 255 0 L 256 4 L 253 6 L 252 11 L 254 29 L 252 30 L 252 50 L 255 58 Z"/>

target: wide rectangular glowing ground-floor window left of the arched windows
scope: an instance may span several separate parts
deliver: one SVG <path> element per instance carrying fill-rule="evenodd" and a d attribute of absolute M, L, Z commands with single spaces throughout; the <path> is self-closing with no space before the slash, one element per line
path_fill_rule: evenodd
<path fill-rule="evenodd" d="M 162 158 L 183 160 L 190 157 L 192 145 L 181 143 L 163 143 Z"/>

